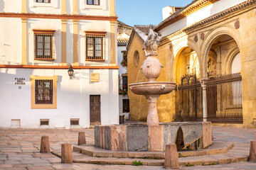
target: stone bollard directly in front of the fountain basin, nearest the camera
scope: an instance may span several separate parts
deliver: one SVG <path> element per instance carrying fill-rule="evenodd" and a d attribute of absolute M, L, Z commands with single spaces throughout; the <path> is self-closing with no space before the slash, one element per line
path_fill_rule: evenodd
<path fill-rule="evenodd" d="M 178 169 L 178 152 L 175 144 L 167 144 L 165 157 L 164 157 L 164 167 L 171 169 Z"/>

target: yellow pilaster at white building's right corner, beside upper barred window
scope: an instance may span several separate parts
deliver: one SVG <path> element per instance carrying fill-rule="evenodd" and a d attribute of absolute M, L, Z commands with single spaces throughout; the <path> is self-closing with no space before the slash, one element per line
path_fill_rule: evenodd
<path fill-rule="evenodd" d="M 110 21 L 110 64 L 117 65 L 116 61 L 116 21 Z"/>

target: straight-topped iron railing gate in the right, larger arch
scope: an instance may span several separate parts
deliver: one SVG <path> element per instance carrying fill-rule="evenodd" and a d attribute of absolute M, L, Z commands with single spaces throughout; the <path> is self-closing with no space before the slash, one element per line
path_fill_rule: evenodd
<path fill-rule="evenodd" d="M 213 123 L 242 123 L 242 77 L 228 74 L 208 79 L 207 119 Z"/>

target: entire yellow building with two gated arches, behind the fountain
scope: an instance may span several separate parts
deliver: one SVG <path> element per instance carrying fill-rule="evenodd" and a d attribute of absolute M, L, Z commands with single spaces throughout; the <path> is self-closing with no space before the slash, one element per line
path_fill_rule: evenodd
<path fill-rule="evenodd" d="M 178 116 L 185 121 L 196 112 L 196 120 L 256 127 L 256 1 L 232 3 L 199 0 L 154 27 L 162 36 L 158 58 L 164 65 L 156 81 L 177 84 L 176 91 L 161 96 L 157 102 L 160 122 L 178 121 Z M 146 59 L 143 43 L 148 29 L 149 26 L 134 26 L 127 45 L 128 84 L 146 81 L 139 69 Z M 188 82 L 181 84 L 182 77 L 188 75 L 196 76 L 196 81 L 188 80 L 195 82 L 192 92 L 186 92 Z M 144 96 L 129 91 L 129 98 L 132 120 L 145 121 L 148 103 Z M 196 103 L 191 102 L 194 98 Z"/>

